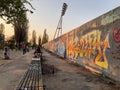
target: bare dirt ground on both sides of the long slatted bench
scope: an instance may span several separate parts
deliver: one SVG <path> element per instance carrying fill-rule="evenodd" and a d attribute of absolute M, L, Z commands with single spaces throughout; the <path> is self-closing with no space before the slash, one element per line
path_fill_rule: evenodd
<path fill-rule="evenodd" d="M 21 51 L 11 51 L 10 60 L 4 60 L 0 51 L 0 90 L 16 90 L 32 60 L 33 52 L 22 55 Z M 83 67 L 46 51 L 43 51 L 42 63 L 45 90 L 120 90 Z"/>

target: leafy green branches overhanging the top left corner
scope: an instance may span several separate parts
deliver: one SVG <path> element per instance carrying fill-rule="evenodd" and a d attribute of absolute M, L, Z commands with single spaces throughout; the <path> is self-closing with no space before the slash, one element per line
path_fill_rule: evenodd
<path fill-rule="evenodd" d="M 34 9 L 28 0 L 0 0 L 0 17 L 7 23 L 14 25 L 15 21 L 24 21 L 24 12 L 31 12 L 30 9 L 25 7 L 25 4 L 29 4 Z"/>

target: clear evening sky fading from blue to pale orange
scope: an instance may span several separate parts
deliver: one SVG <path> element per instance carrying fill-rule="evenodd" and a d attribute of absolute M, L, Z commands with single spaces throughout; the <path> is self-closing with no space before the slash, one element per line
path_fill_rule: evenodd
<path fill-rule="evenodd" d="M 68 5 L 63 16 L 63 34 L 120 6 L 120 0 L 32 0 L 31 4 L 36 10 L 33 10 L 33 14 L 28 13 L 29 36 L 31 37 L 32 31 L 35 30 L 37 36 L 42 37 L 46 29 L 49 40 L 52 40 L 63 3 Z M 5 34 L 7 36 L 13 34 L 11 25 L 5 25 Z"/>

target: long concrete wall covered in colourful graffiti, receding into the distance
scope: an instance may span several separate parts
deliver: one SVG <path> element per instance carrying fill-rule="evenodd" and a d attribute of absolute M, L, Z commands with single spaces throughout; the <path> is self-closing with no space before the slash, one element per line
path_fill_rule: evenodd
<path fill-rule="evenodd" d="M 120 7 L 46 43 L 44 47 L 120 81 Z"/>

